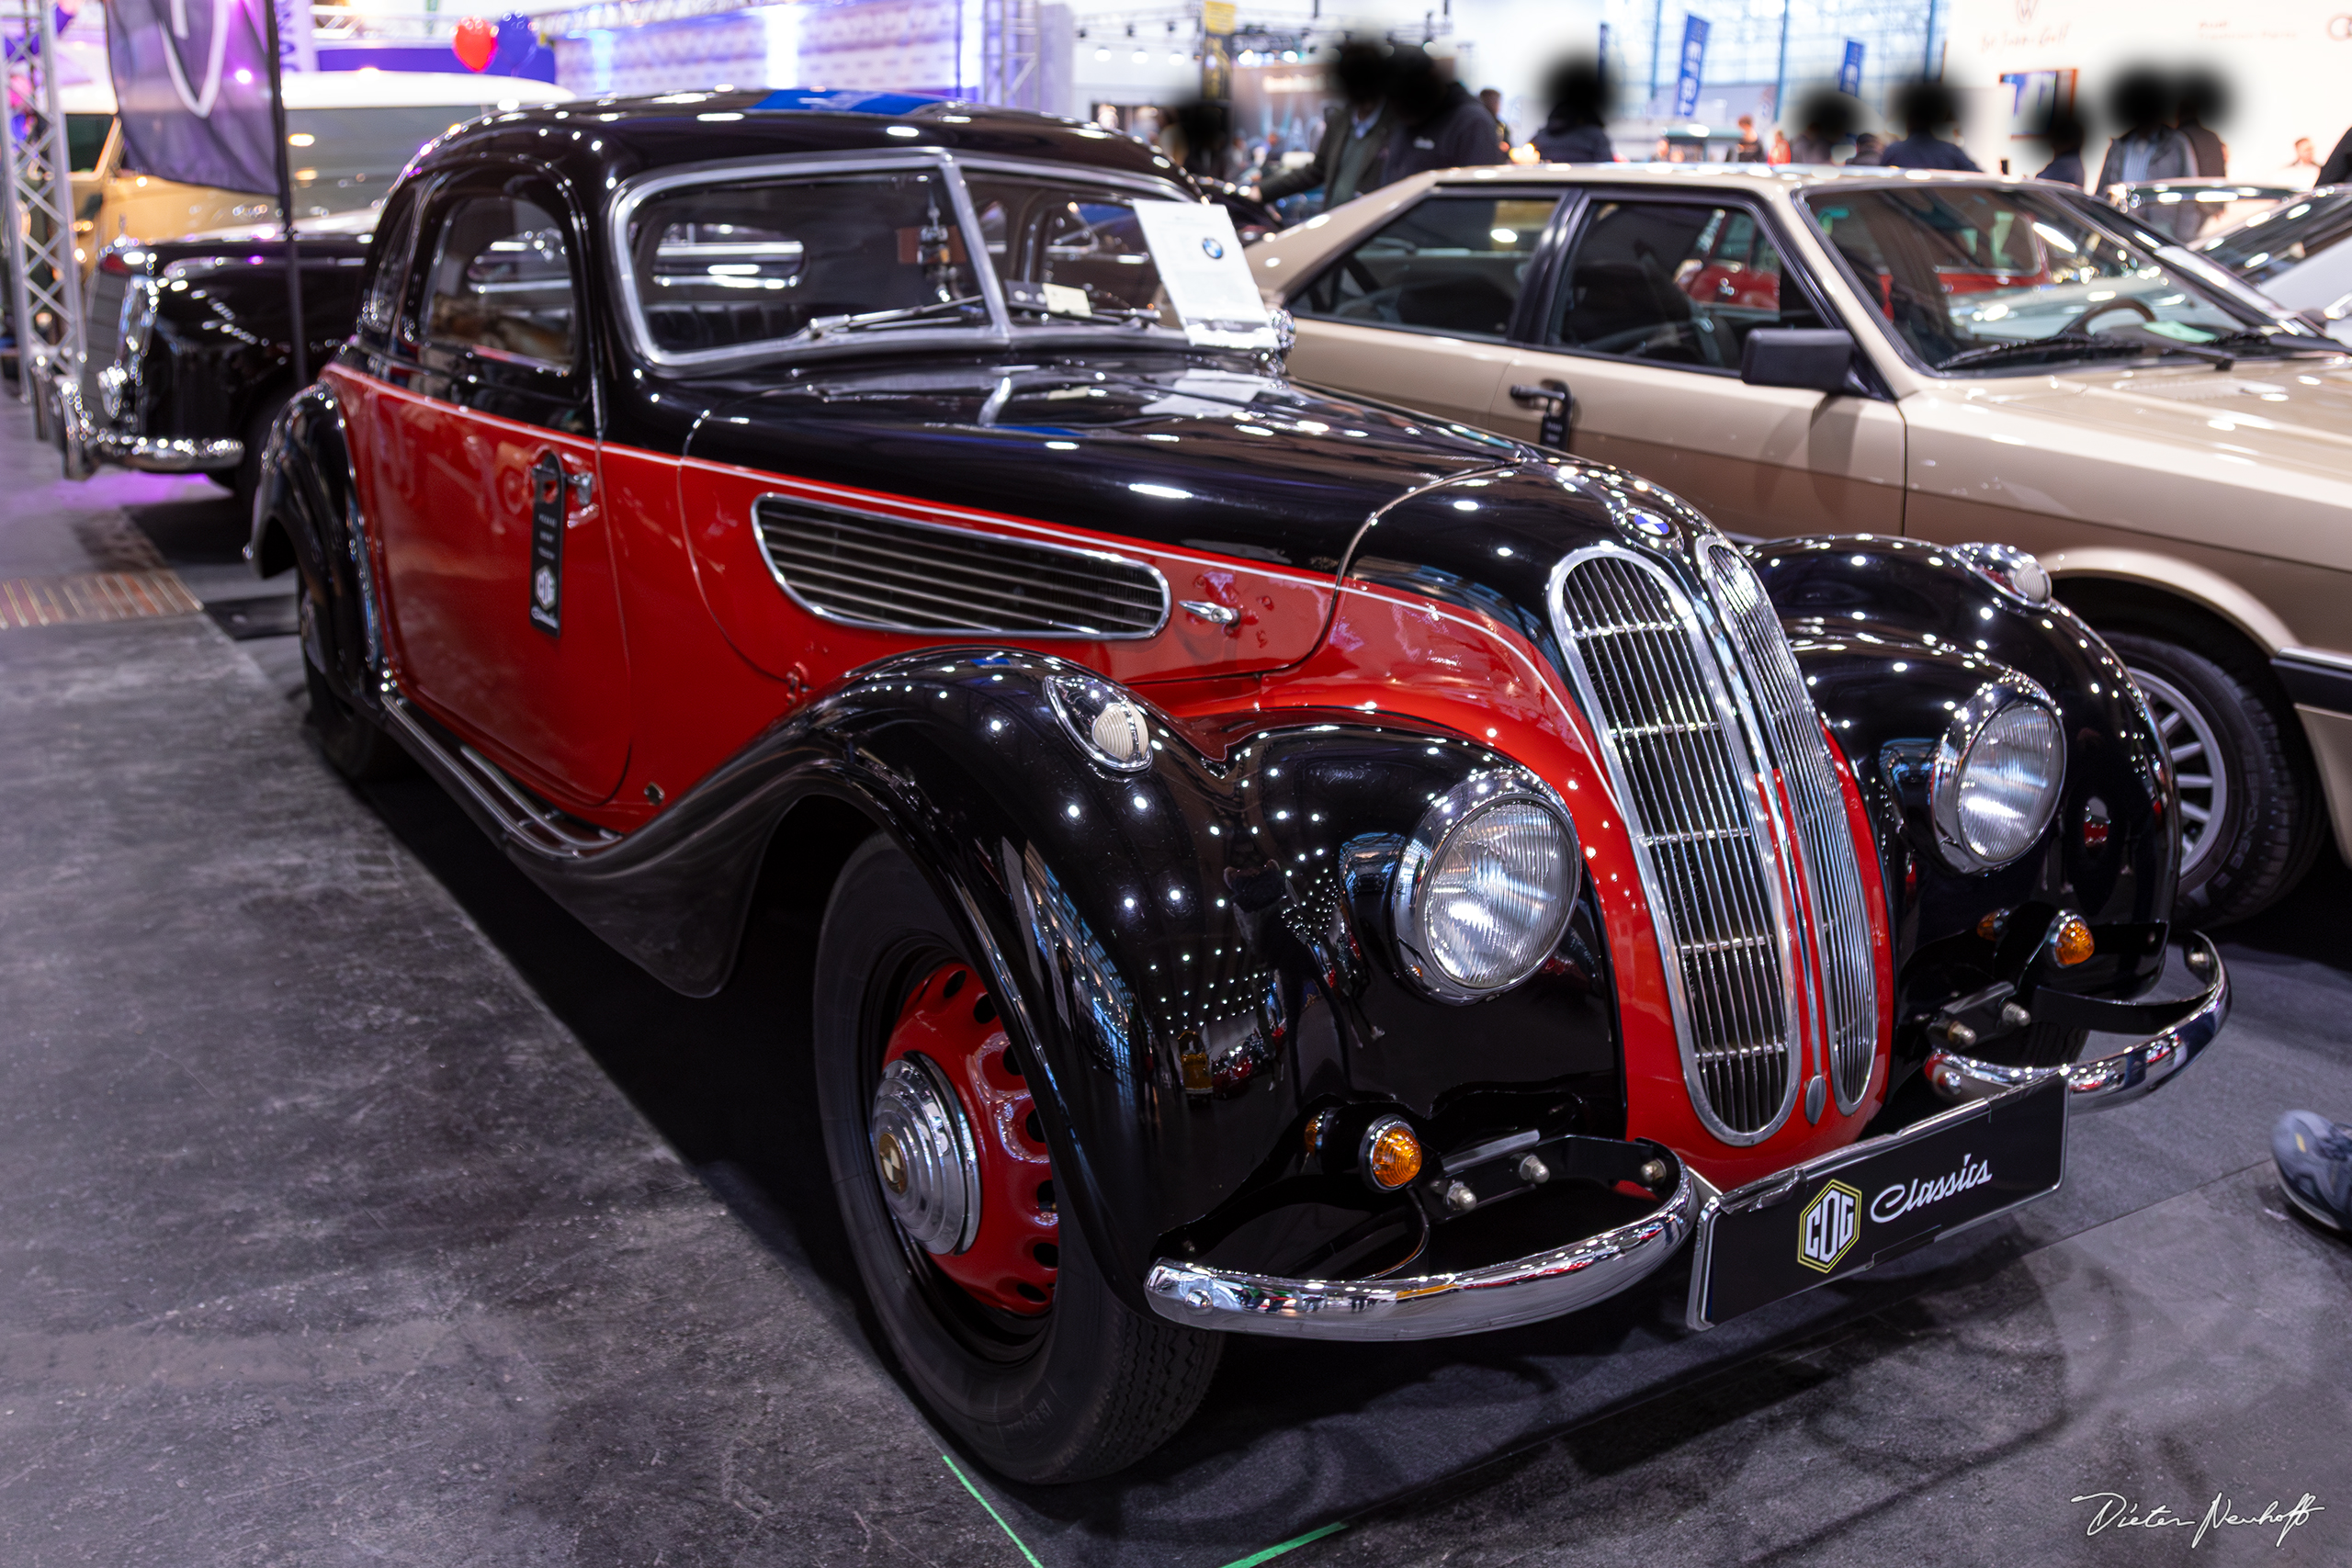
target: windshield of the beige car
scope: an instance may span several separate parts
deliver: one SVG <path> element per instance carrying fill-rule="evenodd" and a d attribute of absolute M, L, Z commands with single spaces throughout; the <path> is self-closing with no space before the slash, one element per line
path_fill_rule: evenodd
<path fill-rule="evenodd" d="M 2239 348 L 2270 324 L 2056 193 L 1915 186 L 1806 205 L 1886 329 L 1936 371 Z"/>

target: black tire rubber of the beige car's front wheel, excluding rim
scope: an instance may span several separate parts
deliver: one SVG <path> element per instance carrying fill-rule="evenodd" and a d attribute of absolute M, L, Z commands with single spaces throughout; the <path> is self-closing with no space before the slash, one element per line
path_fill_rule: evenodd
<path fill-rule="evenodd" d="M 2270 907 L 2312 867 L 2326 830 L 2293 708 L 2251 649 L 2199 639 L 2204 651 L 2190 651 L 2176 628 L 2100 635 L 2126 670 L 2147 670 L 2194 703 L 2220 741 L 2213 764 L 2227 771 L 2230 792 L 2206 832 L 2223 839 L 2180 879 L 2173 922 L 2223 926 Z"/>

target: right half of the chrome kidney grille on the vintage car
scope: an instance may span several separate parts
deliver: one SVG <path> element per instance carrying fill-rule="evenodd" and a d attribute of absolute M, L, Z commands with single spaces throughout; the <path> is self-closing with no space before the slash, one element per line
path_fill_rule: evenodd
<path fill-rule="evenodd" d="M 1783 830 L 1795 827 L 1797 853 L 1790 863 L 1804 877 L 1802 905 L 1811 924 L 1804 957 L 1816 1039 L 1830 1063 L 1837 1110 L 1851 1114 L 1870 1088 L 1879 1051 L 1879 973 L 1856 858 L 1875 849 L 1853 842 L 1846 788 L 1837 778 L 1820 710 L 1804 689 L 1804 672 L 1755 567 L 1726 538 L 1703 543 L 1698 564 L 1762 710 L 1764 748 L 1780 776 Z"/>

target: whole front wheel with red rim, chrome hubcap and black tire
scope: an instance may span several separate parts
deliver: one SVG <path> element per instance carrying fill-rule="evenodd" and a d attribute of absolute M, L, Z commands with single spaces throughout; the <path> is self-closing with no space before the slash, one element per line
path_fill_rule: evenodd
<path fill-rule="evenodd" d="M 924 1403 L 1016 1481 L 1082 1481 L 1190 1420 L 1221 1340 L 1129 1309 L 1077 1225 L 1021 1048 L 889 839 L 816 947 L 816 1098 L 866 1293 Z"/>

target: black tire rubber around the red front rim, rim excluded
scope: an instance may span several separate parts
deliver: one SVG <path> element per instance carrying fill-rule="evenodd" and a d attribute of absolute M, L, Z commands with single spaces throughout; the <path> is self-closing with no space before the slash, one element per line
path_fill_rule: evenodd
<path fill-rule="evenodd" d="M 1223 1340 L 1129 1309 L 1077 1222 L 1061 1227 L 1054 1305 L 1021 1321 L 978 1307 L 898 1232 L 868 1107 L 908 987 L 950 957 L 969 961 L 922 872 L 887 837 L 868 839 L 816 947 L 816 1103 L 842 1225 L 891 1352 L 948 1429 L 1016 1481 L 1103 1476 L 1192 1418 Z"/>

